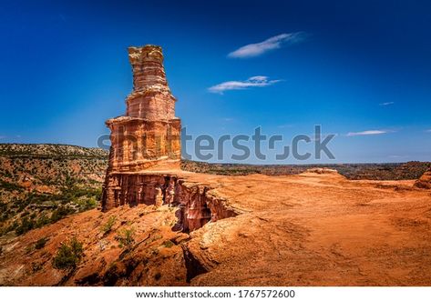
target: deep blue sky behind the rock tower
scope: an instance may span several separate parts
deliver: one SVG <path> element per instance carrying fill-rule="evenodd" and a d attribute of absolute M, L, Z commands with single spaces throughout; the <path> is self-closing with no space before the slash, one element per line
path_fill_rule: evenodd
<path fill-rule="evenodd" d="M 427 1 L 2 2 L 0 142 L 97 145 L 125 112 L 127 47 L 155 44 L 190 134 L 262 126 L 289 144 L 322 125 L 336 159 L 320 162 L 431 161 L 429 15 Z"/>

